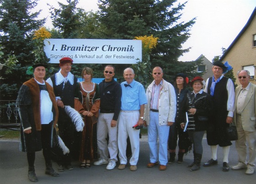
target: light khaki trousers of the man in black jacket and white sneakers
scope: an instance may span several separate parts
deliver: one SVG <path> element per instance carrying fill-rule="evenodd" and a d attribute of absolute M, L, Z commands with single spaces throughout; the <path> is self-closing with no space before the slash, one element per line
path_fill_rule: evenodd
<path fill-rule="evenodd" d="M 111 127 L 113 115 L 114 113 L 100 113 L 97 122 L 98 150 L 101 157 L 108 161 L 117 161 L 118 152 L 117 126 Z"/>

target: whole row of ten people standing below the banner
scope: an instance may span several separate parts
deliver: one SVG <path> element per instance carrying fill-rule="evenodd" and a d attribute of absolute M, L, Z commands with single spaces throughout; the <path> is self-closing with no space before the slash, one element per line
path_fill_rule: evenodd
<path fill-rule="evenodd" d="M 192 79 L 192 92 L 186 87 L 188 79 L 185 74 L 177 74 L 173 86 L 163 79 L 162 68 L 155 67 L 152 71 L 154 80 L 145 91 L 144 86 L 134 80 L 132 68 L 124 70 L 125 81 L 119 84 L 114 80 L 115 68 L 107 65 L 103 71 L 105 79 L 96 84 L 92 82 L 91 68 L 85 67 L 82 70 L 82 82 L 79 82 L 70 72 L 73 60 L 61 58 L 59 62 L 59 72 L 46 81 L 44 77 L 47 66 L 33 65 L 34 78 L 21 86 L 17 98 L 21 117 L 20 149 L 27 152 L 30 181 L 38 181 L 34 161 L 35 152 L 41 149 L 46 163 L 45 173 L 59 177 L 51 163 L 54 129 L 71 151 L 58 154 L 59 172 L 73 169 L 71 156 L 78 137 L 80 144 L 76 149 L 80 150 L 80 168 L 90 168 L 99 155 L 94 165 L 107 164 L 107 169 L 111 170 L 116 167 L 119 158 L 118 169 L 125 169 L 128 164 L 127 147 L 130 146 L 132 156 L 129 168 L 136 171 L 139 160 L 139 128 L 143 126 L 148 127 L 148 168 L 159 164 L 159 170 L 166 170 L 167 163 L 175 161 L 179 137 L 177 162 L 183 162 L 184 154 L 193 145 L 194 161 L 187 167 L 190 167 L 190 171 L 198 170 L 203 154 L 202 139 L 207 131 L 212 158 L 203 166 L 218 163 L 219 145 L 224 151 L 223 171 L 228 171 L 231 142 L 225 129 L 233 122 L 234 114 L 239 138 L 236 141 L 239 163 L 232 169 L 246 168 L 246 174 L 254 173 L 256 86 L 249 83 L 248 71 L 242 70 L 238 73 L 242 84 L 242 87 L 238 88 L 242 90 L 236 90 L 238 94 L 235 95 L 233 82 L 223 76 L 227 68 L 221 62 L 213 63 L 213 77 L 207 79 L 206 85 L 201 77 Z M 243 95 L 240 95 L 240 91 Z M 67 105 L 83 116 L 85 126 L 81 134 L 75 133 L 75 125 L 65 111 Z M 184 128 L 187 131 L 184 131 Z M 250 142 L 248 164 L 245 160 L 246 141 Z M 170 153 L 169 161 L 167 150 Z"/>

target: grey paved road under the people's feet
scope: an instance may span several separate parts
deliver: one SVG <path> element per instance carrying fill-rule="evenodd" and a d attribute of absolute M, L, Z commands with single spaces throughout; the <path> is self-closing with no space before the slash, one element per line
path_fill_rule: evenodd
<path fill-rule="evenodd" d="M 0 138 L 0 183 L 1 184 L 27 184 L 27 158 L 26 153 L 19 151 L 19 142 Z M 203 139 L 202 163 L 210 158 L 210 147 Z M 254 184 L 256 174 L 245 175 L 245 170 L 229 172 L 222 171 L 222 149 L 218 149 L 219 164 L 209 168 L 201 167 L 200 170 L 191 172 L 186 167 L 193 159 L 192 152 L 184 156 L 183 163 L 168 164 L 167 170 L 159 171 L 157 167 L 147 168 L 149 162 L 149 147 L 147 137 L 140 140 L 140 154 L 138 170 L 132 172 L 129 168 L 106 170 L 107 165 L 91 168 L 79 168 L 78 162 L 73 162 L 74 170 L 60 173 L 59 178 L 44 174 L 44 159 L 42 152 L 36 153 L 35 168 L 40 184 Z M 235 143 L 230 147 L 229 164 L 237 163 Z M 57 168 L 57 164 L 53 163 Z"/>

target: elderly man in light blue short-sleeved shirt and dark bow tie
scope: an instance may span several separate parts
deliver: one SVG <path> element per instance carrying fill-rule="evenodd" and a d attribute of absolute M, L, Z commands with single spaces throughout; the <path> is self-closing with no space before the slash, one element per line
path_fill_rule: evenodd
<path fill-rule="evenodd" d="M 121 83 L 122 98 L 121 112 L 118 119 L 118 156 L 120 165 L 118 169 L 124 169 L 127 164 L 126 148 L 127 138 L 129 136 L 132 157 L 130 158 L 130 170 L 137 170 L 139 160 L 139 132 L 140 130 L 133 126 L 143 126 L 144 105 L 147 104 L 145 89 L 142 84 L 134 80 L 134 71 L 132 68 L 126 68 L 123 71 L 125 82 Z"/>

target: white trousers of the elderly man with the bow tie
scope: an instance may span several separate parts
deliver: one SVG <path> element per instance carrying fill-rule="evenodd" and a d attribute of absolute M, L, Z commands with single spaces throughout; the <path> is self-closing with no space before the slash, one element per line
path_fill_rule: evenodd
<path fill-rule="evenodd" d="M 139 132 L 133 128 L 139 121 L 139 110 L 121 110 L 118 118 L 118 156 L 121 164 L 127 163 L 126 147 L 129 136 L 132 148 L 131 165 L 137 165 L 139 160 Z"/>

